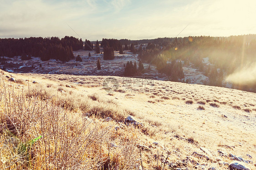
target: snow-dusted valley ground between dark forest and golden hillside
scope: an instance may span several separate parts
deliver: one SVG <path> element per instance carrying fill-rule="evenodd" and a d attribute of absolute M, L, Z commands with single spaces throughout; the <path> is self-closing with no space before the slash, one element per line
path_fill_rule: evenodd
<path fill-rule="evenodd" d="M 139 45 L 138 45 L 139 47 Z M 144 46 L 143 46 L 144 47 Z M 102 49 L 101 49 L 102 50 Z M 91 53 L 91 57 L 89 57 L 89 52 Z M 122 75 L 124 71 L 124 64 L 128 61 L 136 61 L 138 66 L 138 54 L 133 54 L 128 50 L 124 50 L 125 54 L 119 54 L 118 51 L 115 51 L 115 58 L 113 60 L 103 60 L 103 54 L 95 54 L 94 51 L 88 50 L 78 50 L 73 51 L 74 57 L 80 55 L 82 58 L 82 62 L 77 62 L 75 59 L 70 60 L 68 62 L 61 62 L 59 60 L 50 59 L 48 61 L 41 61 L 39 57 L 32 57 L 31 60 L 20 60 L 20 57 L 10 58 L 8 62 L 11 62 L 16 66 L 16 68 L 7 68 L 8 70 L 19 72 L 22 71 L 23 67 L 26 70 L 27 67 L 31 67 L 32 65 L 35 68 L 29 70 L 31 73 L 43 73 L 43 74 L 71 74 L 71 75 Z M 97 59 L 100 59 L 101 69 L 97 70 Z M 168 61 L 170 62 L 170 61 Z M 183 61 L 182 61 L 183 62 Z M 205 65 L 210 65 L 209 58 L 203 58 L 203 63 Z M 22 64 L 22 65 L 21 65 Z M 39 65 L 42 67 L 39 67 Z M 148 68 L 147 63 L 143 63 L 144 68 Z M 165 75 L 159 74 L 154 65 L 150 64 L 150 71 L 146 71 L 143 76 L 154 76 L 156 80 L 168 80 Z M 185 76 L 185 80 L 189 79 L 189 84 L 205 84 L 209 82 L 208 77 L 203 75 L 200 70 L 192 68 L 192 66 L 184 66 L 183 72 Z M 232 85 L 230 83 L 226 83 L 226 87 L 230 88 Z"/>

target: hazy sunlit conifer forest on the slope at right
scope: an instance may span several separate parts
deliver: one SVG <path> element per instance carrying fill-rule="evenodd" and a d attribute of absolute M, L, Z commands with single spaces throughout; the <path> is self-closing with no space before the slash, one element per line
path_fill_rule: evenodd
<path fill-rule="evenodd" d="M 158 38 L 146 48 L 138 49 L 138 57 L 154 63 L 159 71 L 166 72 L 168 60 L 192 63 L 210 80 L 206 85 L 222 86 L 225 75 L 256 62 L 256 35 L 230 37 L 189 36 L 184 38 Z M 204 65 L 208 57 L 211 65 Z M 167 71 L 168 73 L 169 71 Z M 237 89 L 256 92 L 256 83 L 237 85 Z"/>

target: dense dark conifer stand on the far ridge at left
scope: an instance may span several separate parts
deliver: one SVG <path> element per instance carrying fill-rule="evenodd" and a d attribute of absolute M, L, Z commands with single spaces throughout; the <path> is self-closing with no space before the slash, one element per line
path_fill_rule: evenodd
<path fill-rule="evenodd" d="M 31 56 L 40 57 L 42 61 L 56 59 L 68 61 L 74 58 L 73 50 L 83 48 L 82 39 L 65 36 L 58 37 L 30 37 L 0 39 L 0 56 L 21 56 L 22 60 L 29 60 Z"/>

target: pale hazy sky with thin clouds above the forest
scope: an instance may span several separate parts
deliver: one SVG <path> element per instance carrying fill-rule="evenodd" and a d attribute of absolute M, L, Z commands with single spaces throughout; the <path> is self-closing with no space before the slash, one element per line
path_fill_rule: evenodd
<path fill-rule="evenodd" d="M 254 0 L 0 0 L 0 38 L 256 34 Z M 68 26 L 72 27 L 73 30 Z"/>

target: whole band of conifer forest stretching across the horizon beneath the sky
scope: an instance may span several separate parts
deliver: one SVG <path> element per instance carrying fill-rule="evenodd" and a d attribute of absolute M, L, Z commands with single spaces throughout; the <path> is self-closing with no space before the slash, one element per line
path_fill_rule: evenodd
<path fill-rule="evenodd" d="M 165 37 L 152 40 L 103 38 L 102 41 L 86 40 L 85 42 L 72 36 L 61 39 L 58 37 L 9 38 L 0 39 L 0 60 L 4 56 L 21 56 L 21 60 L 30 60 L 33 56 L 40 57 L 43 61 L 49 59 L 68 61 L 74 59 L 73 50 L 95 50 L 99 54 L 99 44 L 103 47 L 104 60 L 113 60 L 114 51 L 118 50 L 120 54 L 123 54 L 124 50 L 138 54 L 140 69 L 137 70 L 136 62 L 128 62 L 124 65 L 124 75 L 140 75 L 144 70 L 141 69 L 141 63 L 144 62 L 156 65 L 157 70 L 172 81 L 183 79 L 184 82 L 189 82 L 184 79 L 182 67 L 192 63 L 193 67 L 209 78 L 210 82 L 205 82 L 205 85 L 223 86 L 222 80 L 226 75 L 256 62 L 256 35 Z M 204 58 L 209 59 L 210 65 L 203 63 Z M 237 85 L 234 88 L 256 92 L 256 83 Z"/>

